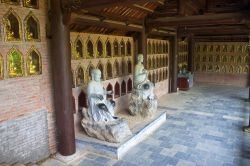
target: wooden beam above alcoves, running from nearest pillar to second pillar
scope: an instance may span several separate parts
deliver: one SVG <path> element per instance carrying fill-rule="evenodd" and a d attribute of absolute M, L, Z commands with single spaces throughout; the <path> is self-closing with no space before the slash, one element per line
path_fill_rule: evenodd
<path fill-rule="evenodd" d="M 141 32 L 143 29 L 141 25 L 137 24 L 127 24 L 125 22 L 113 21 L 108 19 L 101 20 L 98 17 L 82 16 L 74 13 L 71 15 L 70 25 L 96 26 L 136 32 Z"/>

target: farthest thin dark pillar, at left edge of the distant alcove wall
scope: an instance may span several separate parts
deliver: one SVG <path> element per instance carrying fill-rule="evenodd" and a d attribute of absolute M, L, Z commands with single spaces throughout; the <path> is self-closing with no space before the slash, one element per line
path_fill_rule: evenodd
<path fill-rule="evenodd" d="M 188 71 L 194 72 L 194 37 L 193 34 L 188 36 Z"/>

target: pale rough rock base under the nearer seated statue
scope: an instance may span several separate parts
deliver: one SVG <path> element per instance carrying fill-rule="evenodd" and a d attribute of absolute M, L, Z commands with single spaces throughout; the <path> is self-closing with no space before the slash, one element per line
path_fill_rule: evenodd
<path fill-rule="evenodd" d="M 81 123 L 87 135 L 103 141 L 119 143 L 132 135 L 128 123 L 121 118 L 109 122 L 96 122 L 83 118 Z"/>

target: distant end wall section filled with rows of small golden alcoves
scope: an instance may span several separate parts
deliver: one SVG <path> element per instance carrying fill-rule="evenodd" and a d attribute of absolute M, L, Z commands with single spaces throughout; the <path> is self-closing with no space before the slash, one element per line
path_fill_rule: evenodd
<path fill-rule="evenodd" d="M 247 42 L 195 44 L 194 69 L 203 73 L 248 74 Z"/>

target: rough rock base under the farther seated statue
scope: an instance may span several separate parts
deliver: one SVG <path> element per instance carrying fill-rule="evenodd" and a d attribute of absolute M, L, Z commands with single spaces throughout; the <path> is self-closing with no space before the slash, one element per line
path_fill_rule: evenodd
<path fill-rule="evenodd" d="M 138 90 L 133 90 L 129 102 L 129 113 L 133 116 L 152 117 L 157 110 L 157 98 L 144 99 Z"/>

